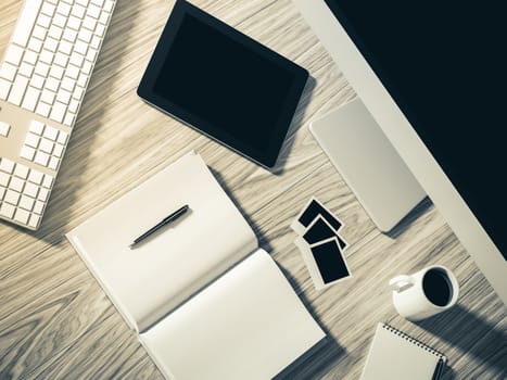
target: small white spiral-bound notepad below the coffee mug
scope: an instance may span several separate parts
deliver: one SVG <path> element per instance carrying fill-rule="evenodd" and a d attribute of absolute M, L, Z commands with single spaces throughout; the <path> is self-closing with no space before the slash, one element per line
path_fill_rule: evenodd
<path fill-rule="evenodd" d="M 447 358 L 406 333 L 377 325 L 362 380 L 436 380 Z"/>

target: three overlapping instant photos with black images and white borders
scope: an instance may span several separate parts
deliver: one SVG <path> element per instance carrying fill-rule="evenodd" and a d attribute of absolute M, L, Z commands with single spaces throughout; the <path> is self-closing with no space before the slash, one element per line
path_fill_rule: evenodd
<path fill-rule="evenodd" d="M 338 233 L 342 226 L 315 198 L 309 200 L 291 225 L 299 235 L 294 243 L 300 249 L 317 289 L 351 276 L 343 255 L 346 243 Z"/>

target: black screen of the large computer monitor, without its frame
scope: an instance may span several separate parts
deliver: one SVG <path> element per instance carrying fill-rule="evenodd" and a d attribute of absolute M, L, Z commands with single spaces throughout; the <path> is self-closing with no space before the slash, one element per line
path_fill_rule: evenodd
<path fill-rule="evenodd" d="M 505 258 L 504 13 L 457 1 L 326 3 Z"/>

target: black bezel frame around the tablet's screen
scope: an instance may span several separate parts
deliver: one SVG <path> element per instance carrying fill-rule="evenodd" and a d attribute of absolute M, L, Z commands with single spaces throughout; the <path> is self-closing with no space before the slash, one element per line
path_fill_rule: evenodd
<path fill-rule="evenodd" d="M 294 80 L 292 81 L 291 88 L 287 92 L 286 101 L 283 102 L 283 106 L 278 114 L 278 119 L 269 137 L 270 140 L 267 143 L 266 150 L 258 150 L 252 145 L 249 145 L 248 141 L 242 141 L 232 137 L 231 135 L 225 132 L 224 129 L 220 129 L 219 126 L 208 123 L 199 115 L 180 107 L 179 105 L 153 91 L 160 72 L 165 63 L 165 59 L 169 53 L 169 50 L 177 36 L 177 31 L 179 30 L 179 27 L 186 15 L 193 16 L 200 22 L 218 30 L 221 35 L 224 35 L 225 38 L 229 38 L 241 43 L 246 49 L 261 54 L 264 59 L 293 74 Z M 169 114 L 170 116 L 174 116 L 186 125 L 229 147 L 236 152 L 245 155 L 262 166 L 272 168 L 276 165 L 279 152 L 291 125 L 292 117 L 300 102 L 300 98 L 303 93 L 307 78 L 308 72 L 303 67 L 296 65 L 284 56 L 266 48 L 259 42 L 243 35 L 242 33 L 236 30 L 235 28 L 213 17 L 212 15 L 205 13 L 189 2 L 185 0 L 177 0 L 164 27 L 161 38 L 159 39 L 153 55 L 148 64 L 141 83 L 139 84 L 137 93 L 151 105 Z"/>

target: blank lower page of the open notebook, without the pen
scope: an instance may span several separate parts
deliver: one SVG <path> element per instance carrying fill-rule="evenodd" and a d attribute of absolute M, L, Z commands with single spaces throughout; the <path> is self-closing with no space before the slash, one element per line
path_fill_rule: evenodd
<path fill-rule="evenodd" d="M 325 333 L 258 250 L 140 337 L 172 380 L 263 380 Z"/>

